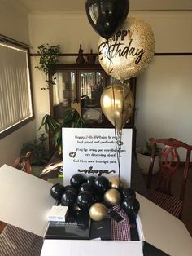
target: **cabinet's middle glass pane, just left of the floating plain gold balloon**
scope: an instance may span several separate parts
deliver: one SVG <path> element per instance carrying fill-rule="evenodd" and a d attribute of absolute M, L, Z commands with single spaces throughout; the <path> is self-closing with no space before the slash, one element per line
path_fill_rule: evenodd
<path fill-rule="evenodd" d="M 100 97 L 103 92 L 102 72 L 80 73 L 82 108 L 100 108 Z"/>

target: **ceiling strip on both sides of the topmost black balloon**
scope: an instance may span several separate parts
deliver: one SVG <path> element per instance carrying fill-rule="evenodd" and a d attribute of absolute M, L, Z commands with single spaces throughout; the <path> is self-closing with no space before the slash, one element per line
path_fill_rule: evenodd
<path fill-rule="evenodd" d="M 31 11 L 85 11 L 85 0 L 15 0 Z M 130 0 L 133 11 L 192 10 L 192 0 Z"/>

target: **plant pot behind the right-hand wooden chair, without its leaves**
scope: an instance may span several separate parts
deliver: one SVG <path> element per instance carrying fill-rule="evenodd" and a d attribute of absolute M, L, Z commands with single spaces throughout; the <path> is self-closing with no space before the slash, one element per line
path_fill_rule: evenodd
<path fill-rule="evenodd" d="M 148 174 L 151 156 L 142 155 L 141 151 L 142 151 L 142 147 L 136 148 L 137 163 L 140 170 L 142 171 L 142 174 Z M 155 156 L 152 174 L 156 174 L 158 172 L 159 172 L 158 156 Z"/>

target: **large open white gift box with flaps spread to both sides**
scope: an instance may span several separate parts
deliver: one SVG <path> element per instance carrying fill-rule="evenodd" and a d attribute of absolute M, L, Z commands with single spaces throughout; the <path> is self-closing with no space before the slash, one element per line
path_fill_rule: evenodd
<path fill-rule="evenodd" d="M 52 184 L 11 166 L 0 168 L 0 220 L 44 237 L 47 214 L 55 200 Z M 137 194 L 137 227 L 141 240 L 174 256 L 191 256 L 192 238 L 183 223 Z M 76 252 L 76 254 L 74 254 Z M 142 241 L 45 240 L 41 255 L 142 255 Z"/>

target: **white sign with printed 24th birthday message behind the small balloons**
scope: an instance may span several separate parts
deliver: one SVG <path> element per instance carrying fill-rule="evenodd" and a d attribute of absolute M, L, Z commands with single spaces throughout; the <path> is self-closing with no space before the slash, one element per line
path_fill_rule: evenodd
<path fill-rule="evenodd" d="M 63 175 L 68 185 L 73 174 L 119 174 L 114 129 L 63 128 Z M 130 185 L 132 130 L 124 129 L 120 157 L 120 178 Z"/>

